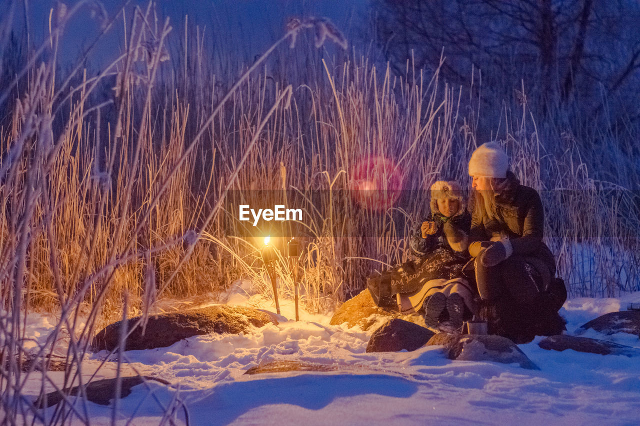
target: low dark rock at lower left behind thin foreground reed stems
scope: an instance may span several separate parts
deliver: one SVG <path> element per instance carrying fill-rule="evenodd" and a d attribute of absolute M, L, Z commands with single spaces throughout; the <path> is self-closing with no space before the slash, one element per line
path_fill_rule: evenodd
<path fill-rule="evenodd" d="M 155 380 L 163 384 L 169 384 L 169 382 L 163 379 L 156 379 L 155 377 L 148 377 L 146 375 L 122 377 L 120 380 L 120 398 L 128 397 L 131 395 L 131 388 L 147 380 Z M 65 388 L 62 391 L 53 391 L 46 395 L 40 395 L 40 397 L 36 399 L 35 406 L 38 408 L 54 406 L 64 399 L 64 395 L 67 395 L 67 397 L 76 396 L 79 389 L 80 386 L 74 386 L 73 388 Z M 85 386 L 85 391 L 87 400 L 95 402 L 95 404 L 100 404 L 101 406 L 108 406 L 111 400 L 116 397 L 116 379 L 93 381 Z"/>

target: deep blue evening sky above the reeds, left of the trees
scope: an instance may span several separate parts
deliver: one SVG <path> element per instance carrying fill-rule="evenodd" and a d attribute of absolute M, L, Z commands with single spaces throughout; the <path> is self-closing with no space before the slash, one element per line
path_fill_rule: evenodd
<path fill-rule="evenodd" d="M 68 2 L 69 8 L 77 2 Z M 173 27 L 173 37 L 184 37 L 185 15 L 188 16 L 189 27 L 195 25 L 205 28 L 205 37 L 223 43 L 228 52 L 237 59 L 251 60 L 266 47 L 284 34 L 285 24 L 291 16 L 326 17 L 340 28 L 351 40 L 353 35 L 362 28 L 367 15 L 367 0 L 182 0 L 157 1 L 159 24 L 164 17 L 169 17 Z M 28 26 L 31 42 L 39 44 L 46 34 L 49 20 L 49 10 L 56 1 L 37 0 L 28 2 Z M 111 19 L 125 4 L 127 26 L 131 22 L 134 6 L 145 8 L 146 1 L 123 0 L 102 1 Z M 24 10 L 19 16 L 24 22 Z M 24 27 L 24 25 L 23 25 Z M 110 35 L 101 40 L 100 55 L 92 56 L 90 65 L 100 67 L 101 60 L 113 58 L 122 49 L 123 20 L 120 15 L 118 21 L 110 31 Z M 81 10 L 76 19 L 70 22 L 68 31 L 61 42 L 63 55 L 60 63 L 65 64 L 65 58 L 73 61 L 83 45 L 89 43 L 99 31 L 99 25 L 90 15 L 90 8 Z M 111 51 L 113 49 L 113 54 Z"/>

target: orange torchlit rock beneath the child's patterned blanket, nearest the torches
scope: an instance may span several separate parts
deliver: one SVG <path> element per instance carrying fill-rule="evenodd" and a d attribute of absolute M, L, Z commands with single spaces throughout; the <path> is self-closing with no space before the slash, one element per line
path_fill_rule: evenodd
<path fill-rule="evenodd" d="M 373 298 L 371 297 L 371 293 L 369 293 L 369 289 L 367 288 L 357 296 L 352 297 L 345 303 L 341 304 L 340 307 L 335 310 L 330 324 L 332 324 L 332 326 L 337 326 L 346 322 L 349 327 L 360 326 L 363 330 L 368 330 L 372 326 L 379 324 L 380 321 L 379 318 L 376 319 L 375 317 L 372 317 L 372 315 L 382 315 L 384 317 L 388 317 L 388 319 L 399 318 L 408 322 L 413 322 L 414 324 L 418 324 L 422 327 L 425 326 L 424 317 L 419 313 L 404 315 L 397 312 L 397 310 L 392 311 L 376 306 Z"/>

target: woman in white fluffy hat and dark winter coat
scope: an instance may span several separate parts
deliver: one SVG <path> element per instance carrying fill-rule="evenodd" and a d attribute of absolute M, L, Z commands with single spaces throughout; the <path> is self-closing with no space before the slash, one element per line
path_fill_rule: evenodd
<path fill-rule="evenodd" d="M 490 332 L 524 343 L 535 335 L 562 333 L 557 311 L 566 290 L 554 278 L 556 261 L 542 241 L 540 195 L 520 185 L 508 166 L 496 142 L 484 143 L 471 155 L 474 210 L 468 249 L 481 297 L 479 315 L 489 322 Z"/>

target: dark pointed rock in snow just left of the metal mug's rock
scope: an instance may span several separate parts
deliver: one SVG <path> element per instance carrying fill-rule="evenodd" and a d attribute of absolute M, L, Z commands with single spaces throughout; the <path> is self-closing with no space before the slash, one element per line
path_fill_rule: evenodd
<path fill-rule="evenodd" d="M 433 331 L 425 327 L 394 318 L 373 332 L 367 352 L 397 352 L 403 349 L 415 351 L 424 346 L 433 335 Z"/>

